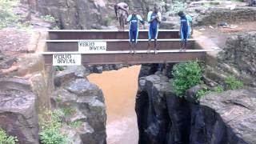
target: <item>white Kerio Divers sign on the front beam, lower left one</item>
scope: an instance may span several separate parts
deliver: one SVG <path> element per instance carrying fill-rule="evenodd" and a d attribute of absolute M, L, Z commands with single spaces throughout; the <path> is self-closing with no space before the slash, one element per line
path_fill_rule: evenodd
<path fill-rule="evenodd" d="M 81 54 L 53 54 L 53 66 L 81 65 Z"/>

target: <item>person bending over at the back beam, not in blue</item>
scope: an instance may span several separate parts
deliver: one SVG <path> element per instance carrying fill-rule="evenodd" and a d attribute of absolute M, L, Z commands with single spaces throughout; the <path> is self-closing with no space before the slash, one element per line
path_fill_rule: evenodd
<path fill-rule="evenodd" d="M 120 2 L 114 5 L 114 13 L 119 22 L 120 29 L 125 30 L 125 22 L 128 16 L 129 6 L 125 2 Z"/>

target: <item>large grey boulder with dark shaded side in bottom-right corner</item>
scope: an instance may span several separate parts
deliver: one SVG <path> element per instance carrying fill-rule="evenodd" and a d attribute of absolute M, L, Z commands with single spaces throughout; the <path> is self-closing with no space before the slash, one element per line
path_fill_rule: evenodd
<path fill-rule="evenodd" d="M 208 94 L 194 109 L 190 143 L 256 142 L 256 90 Z"/>

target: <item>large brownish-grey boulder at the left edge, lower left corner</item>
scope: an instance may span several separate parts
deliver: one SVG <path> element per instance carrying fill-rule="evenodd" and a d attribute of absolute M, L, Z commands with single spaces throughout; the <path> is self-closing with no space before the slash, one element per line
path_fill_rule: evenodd
<path fill-rule="evenodd" d="M 38 143 L 36 96 L 21 78 L 0 79 L 0 127 L 19 143 Z"/>

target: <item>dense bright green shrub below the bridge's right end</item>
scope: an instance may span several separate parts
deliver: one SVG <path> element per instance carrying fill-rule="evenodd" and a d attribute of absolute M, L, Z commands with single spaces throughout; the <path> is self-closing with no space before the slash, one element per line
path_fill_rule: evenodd
<path fill-rule="evenodd" d="M 187 89 L 202 83 L 202 68 L 198 62 L 182 62 L 174 65 L 174 92 L 179 97 L 184 96 Z"/>

